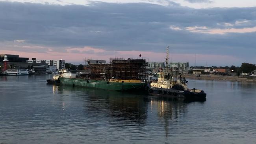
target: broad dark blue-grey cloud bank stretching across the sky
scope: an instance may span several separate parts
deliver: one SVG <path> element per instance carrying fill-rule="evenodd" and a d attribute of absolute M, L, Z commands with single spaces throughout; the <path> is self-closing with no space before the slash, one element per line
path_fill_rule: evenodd
<path fill-rule="evenodd" d="M 172 30 L 170 26 L 181 30 Z M 256 26 L 256 8 L 193 9 L 177 4 L 102 2 L 89 6 L 59 6 L 0 2 L 0 41 L 22 39 L 30 44 L 50 46 L 58 52 L 65 51 L 65 47 L 84 46 L 112 51 L 164 52 L 170 45 L 172 53 L 254 57 L 255 32 L 212 35 L 186 30 L 193 26 L 211 29 L 253 27 Z"/>

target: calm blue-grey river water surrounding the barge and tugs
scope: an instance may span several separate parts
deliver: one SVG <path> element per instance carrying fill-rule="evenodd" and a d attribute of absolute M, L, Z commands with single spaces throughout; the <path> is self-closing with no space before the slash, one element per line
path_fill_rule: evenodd
<path fill-rule="evenodd" d="M 0 77 L 0 143 L 256 144 L 256 83 L 190 80 L 205 102 Z"/>

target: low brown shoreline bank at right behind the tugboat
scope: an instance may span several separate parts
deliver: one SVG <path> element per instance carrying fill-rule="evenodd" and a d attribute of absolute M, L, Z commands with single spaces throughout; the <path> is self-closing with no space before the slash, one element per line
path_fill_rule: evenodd
<path fill-rule="evenodd" d="M 256 79 L 249 78 L 241 78 L 238 76 L 219 76 L 219 75 L 201 75 L 197 77 L 196 75 L 184 75 L 185 78 L 189 79 L 199 79 L 199 80 L 220 80 L 220 81 L 248 81 L 248 82 L 256 82 Z"/>

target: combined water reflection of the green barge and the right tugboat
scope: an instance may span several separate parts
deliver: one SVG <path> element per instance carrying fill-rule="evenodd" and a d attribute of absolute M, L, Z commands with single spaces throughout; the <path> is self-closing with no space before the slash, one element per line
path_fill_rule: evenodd
<path fill-rule="evenodd" d="M 168 137 L 170 123 L 177 123 L 187 113 L 189 101 L 147 94 L 130 94 L 108 90 L 85 89 L 80 87 L 58 87 L 60 96 L 72 94 L 72 98 L 83 102 L 86 115 L 108 118 L 112 124 L 141 126 L 148 122 L 148 113 L 156 113 L 158 121 L 164 125 Z M 55 92 L 55 88 L 54 92 Z M 64 99 L 63 99 L 64 100 Z M 65 103 L 65 102 L 62 102 Z M 200 102 L 204 103 L 204 101 Z"/>

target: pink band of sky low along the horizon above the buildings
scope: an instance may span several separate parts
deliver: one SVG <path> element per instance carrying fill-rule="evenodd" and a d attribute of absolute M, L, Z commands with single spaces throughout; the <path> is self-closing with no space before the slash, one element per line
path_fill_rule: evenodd
<path fill-rule="evenodd" d="M 103 50 L 100 48 L 67 48 L 67 52 L 53 52 L 48 51 L 47 53 L 36 53 L 36 52 L 18 52 L 18 51 L 9 51 L 9 50 L 0 50 L 1 54 L 18 54 L 20 57 L 36 57 L 37 59 L 64 59 L 67 63 L 83 63 L 83 59 L 103 59 L 108 62 L 110 57 L 114 57 L 114 52 Z M 93 50 L 95 54 L 84 54 L 84 53 L 70 53 L 69 50 L 78 50 L 83 52 L 84 50 Z M 98 55 L 97 52 L 103 53 L 103 55 Z M 105 55 L 104 55 L 105 54 Z M 139 57 L 139 54 L 142 57 Z M 156 53 L 156 52 L 145 52 L 145 51 L 116 51 L 116 57 L 127 58 L 143 58 L 147 59 L 149 62 L 164 62 L 165 53 Z M 195 64 L 195 54 L 169 54 L 169 62 L 189 62 L 190 66 Z M 224 63 L 223 63 L 224 61 Z M 197 54 L 196 63 L 197 66 L 204 65 L 208 63 L 209 66 L 215 65 L 216 63 L 223 63 L 223 65 L 232 65 L 233 63 L 239 63 L 243 61 L 237 57 L 230 55 L 213 55 L 213 54 Z"/>

